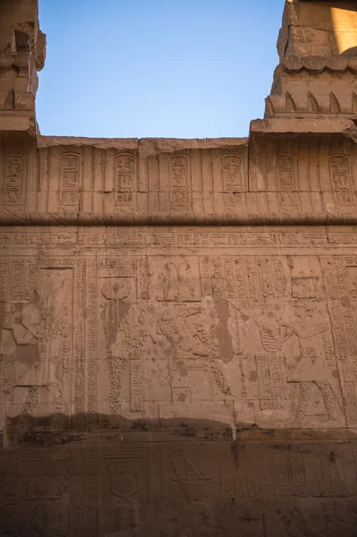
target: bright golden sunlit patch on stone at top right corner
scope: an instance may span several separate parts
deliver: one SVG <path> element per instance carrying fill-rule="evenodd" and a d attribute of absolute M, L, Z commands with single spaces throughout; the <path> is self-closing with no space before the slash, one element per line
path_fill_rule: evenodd
<path fill-rule="evenodd" d="M 342 3 L 330 7 L 333 30 L 332 40 L 338 55 L 357 53 L 357 2 Z"/>

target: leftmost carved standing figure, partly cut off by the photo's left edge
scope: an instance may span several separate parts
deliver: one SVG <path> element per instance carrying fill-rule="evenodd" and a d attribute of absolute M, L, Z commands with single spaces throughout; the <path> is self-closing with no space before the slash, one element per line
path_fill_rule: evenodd
<path fill-rule="evenodd" d="M 72 333 L 65 300 L 70 284 L 69 278 L 58 281 L 44 271 L 38 278 L 30 303 L 4 305 L 2 351 L 13 355 L 14 386 L 28 388 L 22 411 L 25 420 L 38 407 L 40 391 L 46 389 L 54 425 L 62 424 L 65 411 L 62 387 L 64 339 Z M 22 352 L 25 346 L 26 350 Z M 23 362 L 22 356 L 29 356 L 31 351 L 36 360 Z"/>

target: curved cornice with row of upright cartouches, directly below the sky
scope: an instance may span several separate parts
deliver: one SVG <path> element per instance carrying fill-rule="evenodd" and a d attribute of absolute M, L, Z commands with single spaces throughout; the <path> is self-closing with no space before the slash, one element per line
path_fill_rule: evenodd
<path fill-rule="evenodd" d="M 357 151 L 342 135 L 198 142 L 35 149 L 24 137 L 3 137 L 0 217 L 357 214 Z"/>

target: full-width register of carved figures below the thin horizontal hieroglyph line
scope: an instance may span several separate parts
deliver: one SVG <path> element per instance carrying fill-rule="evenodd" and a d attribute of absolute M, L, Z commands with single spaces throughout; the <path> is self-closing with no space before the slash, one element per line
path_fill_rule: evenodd
<path fill-rule="evenodd" d="M 166 416 L 228 398 L 238 422 L 268 426 L 272 410 L 293 427 L 343 424 L 345 410 L 352 421 L 357 263 L 319 263 L 132 252 L 47 257 L 37 277 L 30 258 L 4 260 L 4 399 L 27 421 L 72 405 L 75 428 L 98 426 L 99 412 L 146 415 L 157 397 Z"/>

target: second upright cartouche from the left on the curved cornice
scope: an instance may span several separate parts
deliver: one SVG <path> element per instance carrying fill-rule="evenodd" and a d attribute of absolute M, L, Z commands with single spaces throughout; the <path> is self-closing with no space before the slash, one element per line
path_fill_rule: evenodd
<path fill-rule="evenodd" d="M 64 206 L 78 206 L 80 202 L 81 160 L 76 153 L 64 153 L 61 158 L 59 200 Z"/>

